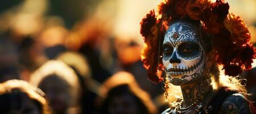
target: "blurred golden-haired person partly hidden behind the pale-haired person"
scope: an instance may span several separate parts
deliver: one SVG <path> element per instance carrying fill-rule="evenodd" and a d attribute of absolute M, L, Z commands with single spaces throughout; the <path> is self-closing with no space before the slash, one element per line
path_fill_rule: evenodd
<path fill-rule="evenodd" d="M 97 113 L 95 98 L 99 95 L 100 83 L 91 78 L 91 69 L 87 59 L 78 52 L 63 52 L 56 58 L 70 66 L 78 76 L 82 96 L 79 100 L 82 113 Z"/>

